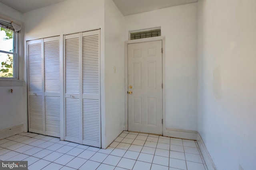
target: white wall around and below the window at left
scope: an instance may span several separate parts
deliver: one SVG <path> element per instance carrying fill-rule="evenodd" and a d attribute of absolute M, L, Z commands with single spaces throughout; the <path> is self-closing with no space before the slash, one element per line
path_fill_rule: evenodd
<path fill-rule="evenodd" d="M 22 23 L 23 16 L 17 10 L 0 3 L 0 19 Z M 23 74 L 23 53 L 21 55 L 19 56 L 20 75 Z M 27 119 L 24 117 L 27 109 L 26 85 L 22 80 L 23 76 L 20 76 L 20 81 L 0 80 L 0 131 L 22 124 L 24 124 L 24 130 L 26 131 Z M 13 89 L 13 93 L 10 92 L 10 89 Z M 16 132 L 18 133 L 18 131 L 12 131 L 7 135 L 14 135 Z M 5 132 L 1 131 L 0 133 L 4 133 L 3 135 L 0 134 L 1 137 L 7 137 Z"/>

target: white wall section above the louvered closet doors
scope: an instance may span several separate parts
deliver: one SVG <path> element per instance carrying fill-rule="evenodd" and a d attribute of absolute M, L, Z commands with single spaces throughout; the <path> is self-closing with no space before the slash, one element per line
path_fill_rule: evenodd
<path fill-rule="evenodd" d="M 24 13 L 24 22 L 25 41 L 103 28 L 104 0 L 67 0 Z"/>

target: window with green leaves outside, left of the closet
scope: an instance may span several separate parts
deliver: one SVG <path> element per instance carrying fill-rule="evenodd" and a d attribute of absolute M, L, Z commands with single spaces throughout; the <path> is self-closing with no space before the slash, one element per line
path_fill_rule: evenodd
<path fill-rule="evenodd" d="M 18 78 L 18 33 L 0 20 L 0 79 Z"/>

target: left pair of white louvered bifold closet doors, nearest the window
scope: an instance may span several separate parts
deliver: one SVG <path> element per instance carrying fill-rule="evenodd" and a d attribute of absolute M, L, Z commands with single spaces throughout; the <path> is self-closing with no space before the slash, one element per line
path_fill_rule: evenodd
<path fill-rule="evenodd" d="M 27 45 L 29 131 L 60 137 L 60 37 Z"/>

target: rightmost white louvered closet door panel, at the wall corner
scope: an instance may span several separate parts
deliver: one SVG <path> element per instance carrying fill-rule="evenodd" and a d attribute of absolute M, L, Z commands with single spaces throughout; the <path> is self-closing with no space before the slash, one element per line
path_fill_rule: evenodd
<path fill-rule="evenodd" d="M 100 30 L 82 33 L 82 144 L 101 147 Z"/>

